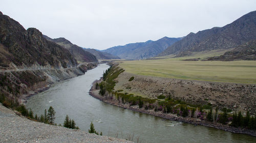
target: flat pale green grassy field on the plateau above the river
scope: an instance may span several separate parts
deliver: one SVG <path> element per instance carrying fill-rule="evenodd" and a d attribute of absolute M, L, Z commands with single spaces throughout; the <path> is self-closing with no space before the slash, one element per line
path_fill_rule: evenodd
<path fill-rule="evenodd" d="M 139 75 L 256 84 L 256 61 L 175 61 L 170 58 L 124 61 L 120 67 Z"/>

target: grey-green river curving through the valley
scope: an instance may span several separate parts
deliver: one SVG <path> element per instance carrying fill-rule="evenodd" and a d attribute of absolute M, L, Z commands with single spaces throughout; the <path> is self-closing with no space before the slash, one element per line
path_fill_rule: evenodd
<path fill-rule="evenodd" d="M 52 84 L 49 90 L 30 97 L 26 106 L 37 115 L 53 106 L 57 124 L 63 125 L 68 115 L 81 130 L 88 131 L 93 122 L 96 131 L 103 135 L 135 142 L 256 142 L 256 137 L 249 135 L 164 120 L 91 97 L 92 82 L 108 68 L 101 64 L 82 76 Z"/>

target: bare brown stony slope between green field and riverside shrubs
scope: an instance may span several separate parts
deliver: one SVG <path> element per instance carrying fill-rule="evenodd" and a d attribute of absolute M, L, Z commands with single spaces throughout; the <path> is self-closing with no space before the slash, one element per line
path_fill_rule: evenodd
<path fill-rule="evenodd" d="M 134 76 L 134 80 L 128 81 Z M 256 86 L 227 82 L 184 80 L 135 75 L 123 72 L 116 79 L 115 90 L 142 97 L 157 98 L 163 94 L 192 104 L 227 107 L 233 111 L 256 113 Z"/>

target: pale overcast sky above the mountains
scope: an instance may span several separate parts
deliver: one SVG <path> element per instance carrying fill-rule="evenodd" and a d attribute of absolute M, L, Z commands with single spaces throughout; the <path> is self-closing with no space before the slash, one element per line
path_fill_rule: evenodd
<path fill-rule="evenodd" d="M 106 49 L 128 43 L 183 37 L 224 26 L 256 10 L 255 0 L 205 1 L 12 1 L 0 11 L 26 29 L 50 38 L 65 37 L 86 48 Z"/>

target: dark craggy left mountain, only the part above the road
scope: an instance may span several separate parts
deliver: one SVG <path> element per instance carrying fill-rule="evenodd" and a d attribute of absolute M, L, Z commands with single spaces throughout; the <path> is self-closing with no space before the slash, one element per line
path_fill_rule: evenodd
<path fill-rule="evenodd" d="M 19 66 L 73 67 L 77 61 L 68 50 L 42 37 L 36 28 L 25 28 L 0 13 L 0 68 Z"/>

